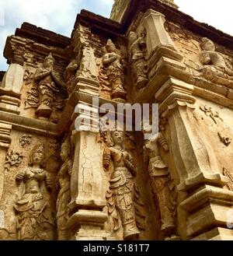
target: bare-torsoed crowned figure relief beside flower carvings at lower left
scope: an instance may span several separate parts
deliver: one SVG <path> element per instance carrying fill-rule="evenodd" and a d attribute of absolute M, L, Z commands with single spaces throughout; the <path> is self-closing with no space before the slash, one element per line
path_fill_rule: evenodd
<path fill-rule="evenodd" d="M 54 239 L 54 220 L 49 200 L 43 190 L 43 184 L 50 190 L 53 182 L 43 169 L 44 160 L 43 145 L 35 146 L 30 153 L 29 167 L 20 170 L 16 176 L 16 183 L 24 185 L 23 194 L 16 199 L 14 205 L 18 240 Z"/>

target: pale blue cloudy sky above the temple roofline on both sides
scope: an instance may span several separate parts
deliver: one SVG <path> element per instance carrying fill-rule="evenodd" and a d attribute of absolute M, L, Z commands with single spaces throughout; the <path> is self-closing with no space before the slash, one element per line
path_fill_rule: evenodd
<path fill-rule="evenodd" d="M 6 70 L 3 49 L 6 37 L 15 33 L 23 22 L 71 35 L 75 18 L 81 9 L 109 17 L 114 0 L 0 0 L 0 70 Z M 194 19 L 209 23 L 233 35 L 233 1 L 175 0 L 179 9 Z"/>

